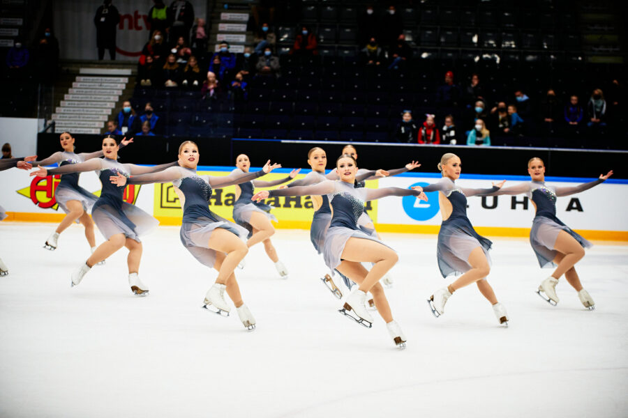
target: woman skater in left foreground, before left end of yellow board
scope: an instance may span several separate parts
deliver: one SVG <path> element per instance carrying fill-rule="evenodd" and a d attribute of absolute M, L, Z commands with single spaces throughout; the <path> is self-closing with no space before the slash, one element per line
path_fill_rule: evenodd
<path fill-rule="evenodd" d="M 184 208 L 181 242 L 201 264 L 218 270 L 216 283 L 207 291 L 203 307 L 216 314 L 224 312 L 225 316 L 229 316 L 231 308 L 225 302 L 226 290 L 244 326 L 248 330 L 253 330 L 255 318 L 242 301 L 233 272 L 248 252 L 248 247 L 244 243 L 248 231 L 216 215 L 209 209 L 208 202 L 212 189 L 251 181 L 281 165 L 271 165 L 269 160 L 262 170 L 255 173 L 231 173 L 229 176 L 218 177 L 198 176 L 196 167 L 199 157 L 197 145 L 192 141 L 185 141 L 179 146 L 180 167 L 170 167 L 159 173 L 133 176 L 130 179 L 118 174 L 112 177 L 112 183 L 141 185 L 172 182 Z"/>

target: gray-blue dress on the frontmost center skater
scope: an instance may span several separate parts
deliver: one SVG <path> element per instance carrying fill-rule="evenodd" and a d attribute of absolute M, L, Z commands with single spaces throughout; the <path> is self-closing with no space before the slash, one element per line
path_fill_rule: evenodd
<path fill-rule="evenodd" d="M 341 180 L 325 180 L 309 186 L 295 186 L 286 189 L 271 190 L 269 196 L 329 196 L 332 208 L 331 223 L 324 237 L 322 247 L 323 258 L 327 267 L 333 272 L 342 262 L 341 256 L 349 238 L 361 238 L 384 242 L 362 231 L 358 219 L 364 213 L 364 203 L 385 196 L 418 196 L 414 189 L 400 187 L 382 187 L 381 189 L 356 188 L 353 184 Z M 386 245 L 389 247 L 388 245 Z"/>

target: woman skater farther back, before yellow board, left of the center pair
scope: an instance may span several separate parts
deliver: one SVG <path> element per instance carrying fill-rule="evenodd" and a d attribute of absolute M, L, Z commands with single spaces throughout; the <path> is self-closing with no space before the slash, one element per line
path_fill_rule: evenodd
<path fill-rule="evenodd" d="M 236 167 L 237 169 L 234 169 L 231 172 L 232 174 L 248 173 L 248 170 L 251 169 L 251 161 L 248 159 L 246 154 L 238 155 L 236 158 Z M 274 217 L 274 215 L 271 215 L 271 207 L 269 205 L 262 204 L 260 202 L 254 203 L 251 201 L 251 197 L 253 197 L 253 189 L 255 189 L 255 187 L 272 187 L 281 185 L 281 183 L 292 180 L 294 176 L 297 176 L 299 171 L 301 171 L 301 169 L 292 170 L 287 177 L 280 178 L 279 180 L 252 180 L 246 183 L 239 183 L 239 185 L 236 186 L 236 201 L 233 205 L 234 221 L 238 225 L 244 226 L 244 228 L 249 231 L 246 246 L 251 248 L 253 245 L 263 242 L 266 254 L 269 256 L 271 261 L 275 263 L 275 268 L 277 269 L 279 276 L 283 279 L 287 279 L 288 272 L 285 265 L 279 261 L 277 251 L 275 250 L 275 247 L 273 247 L 270 240 L 271 236 L 275 233 L 271 220 L 277 222 L 277 218 Z M 239 264 L 239 267 L 244 268 L 244 260 Z"/>

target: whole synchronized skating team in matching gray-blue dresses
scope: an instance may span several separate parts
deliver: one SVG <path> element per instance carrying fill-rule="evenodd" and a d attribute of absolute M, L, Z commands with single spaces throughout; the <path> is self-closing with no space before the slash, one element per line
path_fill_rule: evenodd
<path fill-rule="evenodd" d="M 234 274 L 244 268 L 244 257 L 248 249 L 260 242 L 276 266 L 280 277 L 287 278 L 288 271 L 279 261 L 277 251 L 270 240 L 274 234 L 271 207 L 262 201 L 269 196 L 311 196 L 315 212 L 312 219 L 310 238 L 314 248 L 322 254 L 329 273 L 322 277 L 323 283 L 338 299 L 343 297 L 342 286 L 334 282 L 340 277 L 351 291 L 339 311 L 355 322 L 371 327 L 371 309 L 384 319 L 391 339 L 400 348 L 405 347 L 406 338 L 394 320 L 391 307 L 384 294 L 385 286 L 391 286 L 389 270 L 397 263 L 394 249 L 386 245 L 377 235 L 373 221 L 364 210 L 366 201 L 385 196 L 416 196 L 426 201 L 425 192 L 438 191 L 442 225 L 438 233 L 436 248 L 438 267 L 442 277 L 461 274 L 449 286 L 435 291 L 428 298 L 434 316 L 444 314 L 444 306 L 458 289 L 476 284 L 480 293 L 491 303 L 498 322 L 507 325 L 509 317 L 503 304 L 498 302 L 493 288 L 486 277 L 491 271 L 488 250 L 492 242 L 479 235 L 467 217 L 467 198 L 470 196 L 494 196 L 498 194 L 526 194 L 534 204 L 536 216 L 530 230 L 530 244 L 537 255 L 541 268 L 555 266 L 554 272 L 544 279 L 537 291 L 550 304 L 558 304 L 556 285 L 560 277 L 574 287 L 582 304 L 594 309 L 595 302 L 584 290 L 574 265 L 583 258 L 584 249 L 590 242 L 569 229 L 556 217 L 556 199 L 598 185 L 613 174 L 609 171 L 598 180 L 574 187 L 554 187 L 545 183 L 545 167 L 540 158 L 528 162 L 531 181 L 513 187 L 502 187 L 504 182 L 493 183 L 486 189 L 459 187 L 456 180 L 461 174 L 461 160 L 452 153 L 442 156 L 438 169 L 442 179 L 427 187 L 364 187 L 364 182 L 373 178 L 394 176 L 419 167 L 410 162 L 401 169 L 367 170 L 358 169 L 357 150 L 347 145 L 336 160 L 336 167 L 325 173 L 327 155 L 320 147 L 308 152 L 308 164 L 312 171 L 304 178 L 291 180 L 299 173 L 293 170 L 285 178 L 264 181 L 259 178 L 281 167 L 270 160 L 260 171 L 251 173 L 251 161 L 247 155 L 238 155 L 237 168 L 228 176 L 199 176 L 198 147 L 193 141 L 184 141 L 179 146 L 179 160 L 155 167 L 142 167 L 118 162 L 118 151 L 133 143 L 133 139 L 118 143 L 115 137 L 103 139 L 102 150 L 94 153 L 74 153 L 75 138 L 63 132 L 60 144 L 63 151 L 54 153 L 45 160 L 22 157 L 0 160 L 0 171 L 17 167 L 31 169 L 31 176 L 46 177 L 61 174 L 55 190 L 55 199 L 66 212 L 61 224 L 47 238 L 45 248 L 57 249 L 59 234 L 73 222 L 80 222 L 91 247 L 91 256 L 70 274 L 71 286 L 80 284 L 84 276 L 96 264 L 122 247 L 129 250 L 128 283 L 135 295 L 146 296 L 149 288 L 138 275 L 142 258 L 140 236 L 158 225 L 157 219 L 140 208 L 123 201 L 127 184 L 172 183 L 181 201 L 184 215 L 181 224 L 181 243 L 197 261 L 218 271 L 216 282 L 204 297 L 204 308 L 222 316 L 229 316 L 230 304 L 225 300 L 225 291 L 232 300 L 238 316 L 248 330 L 255 328 L 255 318 L 244 304 Z M 42 166 L 57 164 L 57 169 Z M 100 197 L 94 196 L 78 185 L 79 175 L 84 171 L 95 171 L 102 183 Z M 278 189 L 255 193 L 255 187 L 273 187 L 288 183 Z M 236 201 L 233 207 L 234 222 L 216 215 L 209 209 L 212 189 L 236 185 Z M 91 210 L 91 217 L 88 213 Z M 6 217 L 0 207 L 0 220 Z M 94 223 L 103 234 L 105 242 L 96 247 Z M 365 267 L 368 266 L 368 267 Z M 0 275 L 8 274 L 8 268 L 0 260 Z M 371 297 L 368 296 L 370 293 Z"/>

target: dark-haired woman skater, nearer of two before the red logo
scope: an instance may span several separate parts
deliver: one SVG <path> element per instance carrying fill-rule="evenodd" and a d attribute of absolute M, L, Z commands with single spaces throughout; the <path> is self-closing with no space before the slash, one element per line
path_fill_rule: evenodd
<path fill-rule="evenodd" d="M 142 258 L 142 242 L 140 235 L 150 231 L 159 224 L 157 219 L 151 217 L 140 208 L 122 201 L 124 187 L 114 185 L 110 176 L 121 173 L 123 176 L 153 173 L 172 167 L 177 162 L 161 164 L 155 167 L 140 167 L 135 164 L 121 164 L 117 162 L 118 144 L 113 135 L 103 139 L 104 158 L 92 158 L 86 162 L 76 164 L 63 164 L 58 169 L 47 170 L 38 166 L 36 171 L 31 171 L 31 176 L 45 177 L 49 174 L 82 173 L 84 171 L 98 171 L 98 178 L 102 183 L 100 197 L 94 203 L 91 217 L 96 222 L 98 230 L 107 241 L 100 244 L 87 261 L 73 272 L 72 286 L 80 284 L 84 275 L 105 258 L 114 254 L 123 246 L 128 248 L 128 284 L 135 295 L 146 296 L 148 287 L 142 284 L 137 273 L 140 270 Z"/>

